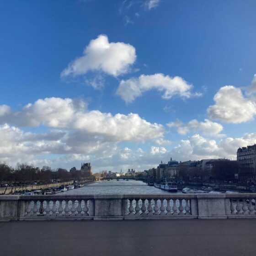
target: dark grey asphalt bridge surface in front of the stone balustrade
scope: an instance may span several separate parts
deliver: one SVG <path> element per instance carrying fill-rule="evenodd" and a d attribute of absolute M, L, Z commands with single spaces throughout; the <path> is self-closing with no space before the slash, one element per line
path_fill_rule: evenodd
<path fill-rule="evenodd" d="M 0 223 L 0 255 L 255 256 L 255 219 Z"/>

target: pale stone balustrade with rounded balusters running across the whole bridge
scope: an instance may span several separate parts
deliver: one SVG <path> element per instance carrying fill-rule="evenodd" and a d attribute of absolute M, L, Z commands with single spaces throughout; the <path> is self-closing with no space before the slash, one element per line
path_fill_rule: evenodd
<path fill-rule="evenodd" d="M 0 221 L 256 218 L 256 194 L 0 196 Z"/>

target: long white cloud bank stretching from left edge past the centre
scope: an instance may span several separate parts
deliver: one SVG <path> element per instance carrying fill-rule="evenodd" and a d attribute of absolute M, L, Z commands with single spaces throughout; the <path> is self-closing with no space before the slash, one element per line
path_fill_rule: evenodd
<path fill-rule="evenodd" d="M 21 111 L 7 111 L 0 123 L 37 127 L 66 128 L 80 133 L 102 136 L 104 141 L 140 141 L 163 139 L 165 129 L 149 123 L 136 113 L 128 115 L 88 111 L 81 100 L 45 98 L 27 104 Z"/>

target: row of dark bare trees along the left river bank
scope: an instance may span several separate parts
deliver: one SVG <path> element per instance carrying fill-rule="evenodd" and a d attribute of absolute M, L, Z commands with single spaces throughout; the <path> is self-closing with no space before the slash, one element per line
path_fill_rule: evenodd
<path fill-rule="evenodd" d="M 91 175 L 91 178 L 99 178 L 106 176 L 107 171 L 96 173 Z M 2 183 L 33 183 L 42 182 L 48 183 L 52 181 L 70 181 L 72 179 L 83 179 L 87 178 L 88 175 L 75 170 L 67 171 L 63 168 L 57 168 L 56 170 L 51 169 L 49 166 L 43 166 L 39 168 L 28 165 L 28 164 L 17 164 L 16 168 L 12 168 L 5 163 L 0 163 L 0 184 Z"/>

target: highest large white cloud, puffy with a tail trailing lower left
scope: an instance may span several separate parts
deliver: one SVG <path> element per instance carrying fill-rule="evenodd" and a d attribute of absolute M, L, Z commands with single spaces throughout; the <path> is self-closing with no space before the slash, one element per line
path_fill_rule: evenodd
<path fill-rule="evenodd" d="M 69 63 L 61 77 L 84 75 L 88 71 L 103 71 L 118 76 L 129 71 L 136 60 L 135 48 L 128 43 L 109 43 L 106 35 L 99 35 L 86 46 L 83 56 Z"/>

